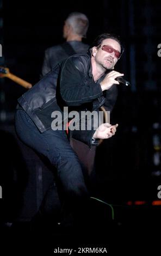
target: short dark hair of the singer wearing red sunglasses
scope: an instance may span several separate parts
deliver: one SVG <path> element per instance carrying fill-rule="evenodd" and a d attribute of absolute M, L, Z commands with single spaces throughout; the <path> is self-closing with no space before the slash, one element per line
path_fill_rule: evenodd
<path fill-rule="evenodd" d="M 120 41 L 120 36 L 119 35 L 114 35 L 114 34 L 109 34 L 109 33 L 103 33 L 101 35 L 98 35 L 97 38 L 90 45 L 90 47 L 88 49 L 88 54 L 91 54 L 92 47 L 94 47 L 94 46 L 97 47 L 98 45 L 101 45 L 102 41 L 104 39 L 108 39 L 108 38 L 114 39 L 115 41 L 119 42 L 119 44 L 121 46 L 121 56 L 122 56 L 122 54 L 124 52 L 124 47 L 123 47 L 122 42 Z"/>

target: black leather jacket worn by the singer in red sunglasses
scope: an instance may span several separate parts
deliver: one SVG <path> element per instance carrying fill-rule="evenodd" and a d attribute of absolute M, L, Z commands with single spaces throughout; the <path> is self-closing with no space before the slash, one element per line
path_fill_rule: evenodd
<path fill-rule="evenodd" d="M 49 127 L 45 124 L 40 112 L 49 113 L 48 109 L 52 109 L 52 112 L 63 113 L 63 107 L 68 106 L 70 111 L 98 111 L 99 107 L 104 105 L 108 111 L 111 111 L 116 101 L 117 89 L 114 85 L 102 92 L 100 82 L 103 77 L 95 82 L 91 71 L 90 56 L 77 54 L 55 66 L 33 88 L 24 93 L 18 99 L 18 103 L 34 121 L 40 132 L 44 132 Z M 90 130 L 72 133 L 74 138 L 91 145 L 94 132 Z"/>

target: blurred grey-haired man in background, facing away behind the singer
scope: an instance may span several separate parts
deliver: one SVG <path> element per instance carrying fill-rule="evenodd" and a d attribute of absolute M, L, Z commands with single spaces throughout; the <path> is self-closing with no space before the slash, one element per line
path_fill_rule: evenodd
<path fill-rule="evenodd" d="M 89 20 L 85 14 L 78 12 L 69 14 L 63 27 L 63 38 L 66 42 L 47 48 L 42 65 L 42 76 L 51 71 L 61 60 L 73 54 L 86 54 L 89 45 L 84 44 L 82 39 L 86 38 L 88 27 Z"/>

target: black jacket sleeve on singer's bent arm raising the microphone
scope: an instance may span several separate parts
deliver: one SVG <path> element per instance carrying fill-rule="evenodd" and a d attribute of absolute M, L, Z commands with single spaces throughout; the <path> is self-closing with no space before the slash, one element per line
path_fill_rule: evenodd
<path fill-rule="evenodd" d="M 67 106 L 80 106 L 103 94 L 100 83 L 85 82 L 84 72 L 89 70 L 84 70 L 81 60 L 76 65 L 74 58 L 76 57 L 65 60 L 60 74 L 60 94 Z"/>

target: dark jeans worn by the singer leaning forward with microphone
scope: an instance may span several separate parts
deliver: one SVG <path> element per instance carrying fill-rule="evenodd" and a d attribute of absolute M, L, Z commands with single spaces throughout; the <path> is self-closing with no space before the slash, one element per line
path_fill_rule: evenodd
<path fill-rule="evenodd" d="M 82 203 L 89 198 L 89 192 L 85 185 L 82 166 L 71 148 L 65 131 L 50 129 L 41 133 L 23 109 L 16 111 L 15 129 L 22 142 L 46 156 L 56 167 L 66 212 L 76 210 L 80 216 L 80 212 L 85 211 Z"/>

